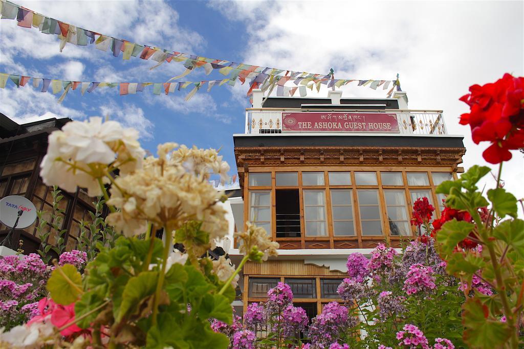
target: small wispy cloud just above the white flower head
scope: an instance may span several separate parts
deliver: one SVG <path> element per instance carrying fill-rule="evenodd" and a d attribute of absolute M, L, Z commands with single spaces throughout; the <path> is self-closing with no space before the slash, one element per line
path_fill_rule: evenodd
<path fill-rule="evenodd" d="M 145 117 L 144 110 L 134 104 L 125 104 L 122 108 L 114 102 L 100 107 L 100 114 L 110 120 L 122 123 L 125 127 L 132 127 L 139 131 L 139 138 L 152 139 L 153 123 Z"/>

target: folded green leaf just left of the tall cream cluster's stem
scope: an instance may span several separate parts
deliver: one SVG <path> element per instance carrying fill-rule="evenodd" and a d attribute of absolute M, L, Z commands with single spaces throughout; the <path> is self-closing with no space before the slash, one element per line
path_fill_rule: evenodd
<path fill-rule="evenodd" d="M 134 309 L 141 300 L 152 295 L 157 286 L 157 272 L 142 272 L 127 282 L 122 294 L 122 303 L 116 321 L 122 320 L 126 314 Z"/>

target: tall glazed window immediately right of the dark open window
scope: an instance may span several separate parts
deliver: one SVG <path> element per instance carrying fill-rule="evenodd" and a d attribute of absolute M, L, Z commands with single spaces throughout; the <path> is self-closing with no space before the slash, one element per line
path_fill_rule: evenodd
<path fill-rule="evenodd" d="M 326 204 L 324 190 L 304 190 L 304 220 L 307 237 L 325 237 Z"/>

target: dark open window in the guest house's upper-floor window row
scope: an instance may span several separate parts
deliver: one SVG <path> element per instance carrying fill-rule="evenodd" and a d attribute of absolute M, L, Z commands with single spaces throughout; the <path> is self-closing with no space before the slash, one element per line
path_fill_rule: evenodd
<path fill-rule="evenodd" d="M 276 190 L 277 238 L 300 238 L 298 189 Z"/>

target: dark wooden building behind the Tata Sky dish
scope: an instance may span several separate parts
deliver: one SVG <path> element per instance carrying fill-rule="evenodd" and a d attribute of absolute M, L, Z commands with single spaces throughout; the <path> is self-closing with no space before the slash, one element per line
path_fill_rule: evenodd
<path fill-rule="evenodd" d="M 19 125 L 0 114 L 0 198 L 8 195 L 24 196 L 32 201 L 37 210 L 44 211 L 45 220 L 51 220 L 53 188 L 42 182 L 40 163 L 47 152 L 49 134 L 61 129 L 69 121 L 69 118 L 53 118 Z M 66 249 L 70 251 L 78 244 L 81 222 L 91 221 L 90 212 L 95 211 L 95 199 L 89 197 L 83 189 L 75 193 L 61 192 L 61 195 L 63 198 L 58 206 L 63 210 L 60 213 L 60 228 L 67 230 L 63 238 Z M 14 245 L 18 245 L 19 240 L 23 242 L 21 248 L 26 254 L 36 253 L 41 248 L 37 222 L 25 229 L 15 229 L 12 236 Z M 53 230 L 50 223 L 43 227 L 42 233 Z M 9 228 L 0 223 L 0 241 L 4 240 L 8 231 Z M 57 239 L 58 234 L 53 231 L 47 242 L 56 245 Z M 50 253 L 54 254 L 52 250 Z"/>

